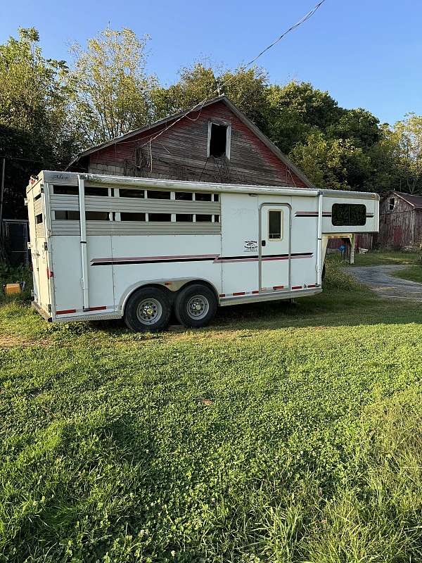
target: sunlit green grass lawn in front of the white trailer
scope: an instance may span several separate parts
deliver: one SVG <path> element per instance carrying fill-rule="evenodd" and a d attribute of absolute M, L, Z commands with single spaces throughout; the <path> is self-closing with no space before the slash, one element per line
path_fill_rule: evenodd
<path fill-rule="evenodd" d="M 0 561 L 422 560 L 422 310 L 325 293 L 131 334 L 0 306 Z"/>

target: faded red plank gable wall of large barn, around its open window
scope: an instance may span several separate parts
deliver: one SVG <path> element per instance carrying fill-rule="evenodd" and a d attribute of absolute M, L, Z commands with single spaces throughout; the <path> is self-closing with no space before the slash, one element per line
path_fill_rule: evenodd
<path fill-rule="evenodd" d="M 231 123 L 230 160 L 207 159 L 208 121 Z M 201 182 L 306 187 L 293 171 L 219 101 L 168 130 L 161 126 L 117 141 L 89 157 L 89 172 Z M 160 137 L 148 141 L 163 130 Z"/>

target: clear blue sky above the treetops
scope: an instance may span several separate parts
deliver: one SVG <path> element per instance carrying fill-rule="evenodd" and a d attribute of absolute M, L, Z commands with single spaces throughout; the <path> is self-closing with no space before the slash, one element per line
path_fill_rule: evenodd
<path fill-rule="evenodd" d="M 68 46 L 108 23 L 148 33 L 148 68 L 165 84 L 181 66 L 210 57 L 229 68 L 249 61 L 316 0 L 3 0 L 0 42 L 18 26 L 37 27 L 44 56 L 69 59 Z M 381 122 L 422 114 L 422 3 L 326 0 L 311 20 L 260 58 L 272 82 L 295 78 L 328 90 L 346 108 Z"/>

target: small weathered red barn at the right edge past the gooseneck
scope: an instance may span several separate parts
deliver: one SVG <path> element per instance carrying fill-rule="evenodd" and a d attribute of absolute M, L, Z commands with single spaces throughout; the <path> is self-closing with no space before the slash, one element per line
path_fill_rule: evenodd
<path fill-rule="evenodd" d="M 380 201 L 378 246 L 404 248 L 422 242 L 422 196 L 390 191 Z"/>

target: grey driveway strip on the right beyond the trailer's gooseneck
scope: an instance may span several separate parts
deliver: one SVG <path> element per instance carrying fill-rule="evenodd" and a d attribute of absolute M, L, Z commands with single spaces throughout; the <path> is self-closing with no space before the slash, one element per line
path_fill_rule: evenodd
<path fill-rule="evenodd" d="M 404 265 L 393 266 L 356 266 L 347 268 L 362 284 L 366 284 L 380 297 L 412 299 L 422 302 L 422 284 L 417 281 L 393 277 L 392 272 L 403 270 Z"/>

